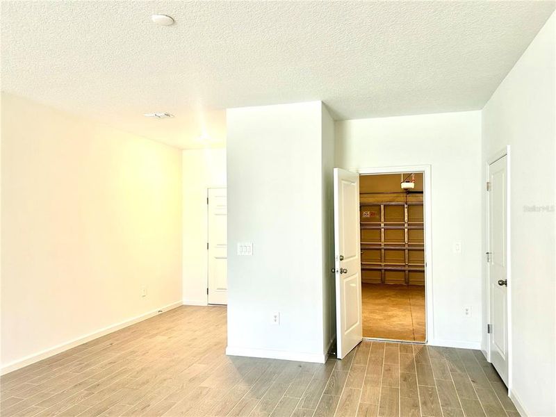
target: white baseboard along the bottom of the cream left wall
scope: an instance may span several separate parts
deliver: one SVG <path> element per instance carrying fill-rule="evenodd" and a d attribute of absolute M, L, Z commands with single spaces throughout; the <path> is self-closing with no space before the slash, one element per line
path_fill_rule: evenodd
<path fill-rule="evenodd" d="M 60 343 L 59 345 L 50 347 L 49 349 L 41 350 L 40 352 L 33 353 L 23 357 L 22 359 L 17 359 L 16 361 L 12 361 L 10 363 L 3 364 L 0 368 L 0 375 L 4 375 L 6 373 L 10 373 L 13 370 L 23 368 L 24 366 L 31 365 L 31 363 L 35 363 L 38 361 L 42 361 L 42 359 L 47 359 L 49 357 L 54 356 L 55 354 L 64 352 L 65 350 L 71 349 L 72 347 L 76 347 L 82 345 L 83 343 L 87 343 L 88 341 L 92 341 L 95 338 L 99 338 L 106 334 L 115 332 L 117 330 L 123 329 L 124 327 L 128 327 L 134 325 L 137 322 L 142 320 L 147 320 L 147 318 L 151 318 L 156 316 L 161 311 L 168 311 L 171 309 L 175 309 L 182 305 L 181 301 L 173 302 L 172 304 L 167 304 L 162 307 L 158 307 L 158 309 L 154 309 L 152 311 L 148 311 L 147 313 L 141 314 L 140 316 L 136 316 L 130 318 L 128 320 L 124 320 L 122 322 L 118 322 L 115 325 L 111 325 L 108 327 L 104 327 L 102 329 L 98 329 L 95 332 L 91 332 L 85 334 L 83 336 L 79 336 L 78 338 L 74 338 L 71 341 L 67 341 L 65 343 Z"/>

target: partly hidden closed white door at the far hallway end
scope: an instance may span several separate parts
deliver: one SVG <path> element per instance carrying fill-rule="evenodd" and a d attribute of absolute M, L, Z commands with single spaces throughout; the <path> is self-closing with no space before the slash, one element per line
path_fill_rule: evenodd
<path fill-rule="evenodd" d="M 208 189 L 208 304 L 227 304 L 227 193 Z"/>

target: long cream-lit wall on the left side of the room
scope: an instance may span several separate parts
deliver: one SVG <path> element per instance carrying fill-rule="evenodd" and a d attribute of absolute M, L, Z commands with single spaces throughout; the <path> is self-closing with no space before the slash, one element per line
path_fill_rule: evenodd
<path fill-rule="evenodd" d="M 181 304 L 181 151 L 1 98 L 3 371 Z"/>

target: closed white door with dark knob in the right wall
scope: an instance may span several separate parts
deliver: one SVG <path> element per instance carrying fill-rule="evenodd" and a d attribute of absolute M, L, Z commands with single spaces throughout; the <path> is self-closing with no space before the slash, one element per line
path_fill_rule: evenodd
<path fill-rule="evenodd" d="M 491 362 L 507 384 L 507 156 L 489 165 L 489 293 Z"/>

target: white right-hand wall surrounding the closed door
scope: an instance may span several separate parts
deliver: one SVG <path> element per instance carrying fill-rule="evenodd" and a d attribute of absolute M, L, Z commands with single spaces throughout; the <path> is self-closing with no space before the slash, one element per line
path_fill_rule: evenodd
<path fill-rule="evenodd" d="M 510 388 L 528 416 L 556 415 L 555 49 L 553 14 L 482 111 L 484 176 L 489 157 L 510 146 Z"/>

